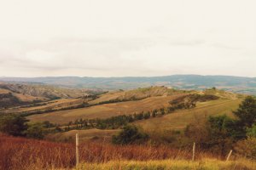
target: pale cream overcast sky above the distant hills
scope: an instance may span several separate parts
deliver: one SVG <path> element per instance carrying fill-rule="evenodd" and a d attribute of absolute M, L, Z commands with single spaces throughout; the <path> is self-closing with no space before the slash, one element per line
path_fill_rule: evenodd
<path fill-rule="evenodd" d="M 255 0 L 0 0 L 0 77 L 256 77 Z"/>

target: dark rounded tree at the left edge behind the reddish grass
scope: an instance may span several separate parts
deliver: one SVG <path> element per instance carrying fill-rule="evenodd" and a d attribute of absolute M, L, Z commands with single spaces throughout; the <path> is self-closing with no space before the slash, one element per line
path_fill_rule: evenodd
<path fill-rule="evenodd" d="M 23 116 L 8 115 L 0 117 L 0 131 L 13 136 L 25 136 L 28 120 Z"/>

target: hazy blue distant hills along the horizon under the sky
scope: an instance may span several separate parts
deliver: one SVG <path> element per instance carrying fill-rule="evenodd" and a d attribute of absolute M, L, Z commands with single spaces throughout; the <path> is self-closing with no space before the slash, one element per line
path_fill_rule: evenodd
<path fill-rule="evenodd" d="M 240 94 L 256 94 L 256 78 L 230 76 L 173 75 L 166 77 L 0 77 L 4 82 L 37 82 L 72 88 L 105 90 L 166 86 L 201 90 L 216 87 Z"/>

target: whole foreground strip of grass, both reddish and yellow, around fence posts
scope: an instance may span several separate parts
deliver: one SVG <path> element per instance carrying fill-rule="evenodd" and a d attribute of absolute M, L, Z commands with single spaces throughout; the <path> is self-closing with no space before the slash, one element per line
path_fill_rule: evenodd
<path fill-rule="evenodd" d="M 72 169 L 75 167 L 75 144 L 53 143 L 43 140 L 0 136 L 0 169 Z M 80 169 L 255 169 L 255 161 L 237 159 L 224 161 L 225 156 L 196 150 L 195 161 L 191 151 L 167 146 L 80 144 Z"/>

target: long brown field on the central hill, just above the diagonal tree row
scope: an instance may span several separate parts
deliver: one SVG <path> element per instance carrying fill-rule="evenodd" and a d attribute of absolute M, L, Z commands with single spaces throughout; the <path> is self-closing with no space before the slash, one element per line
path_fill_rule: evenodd
<path fill-rule="evenodd" d="M 74 109 L 68 111 L 55 111 L 50 113 L 28 116 L 32 122 L 54 122 L 67 123 L 76 119 L 108 118 L 111 116 L 133 114 L 135 112 L 153 111 L 168 106 L 168 102 L 185 94 L 172 96 L 159 96 L 137 101 L 127 101 L 106 105 L 96 105 L 88 108 Z"/>

